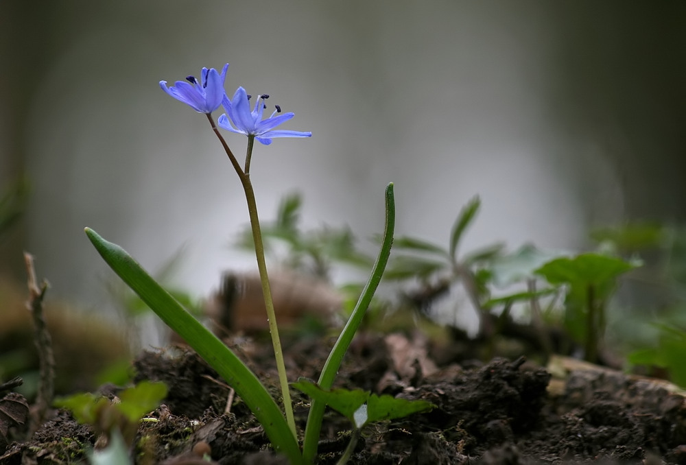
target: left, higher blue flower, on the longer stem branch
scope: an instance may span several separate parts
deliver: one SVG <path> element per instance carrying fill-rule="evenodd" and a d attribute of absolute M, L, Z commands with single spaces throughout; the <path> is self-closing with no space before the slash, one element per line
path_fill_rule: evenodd
<path fill-rule="evenodd" d="M 222 104 L 224 79 L 228 63 L 224 64 L 222 73 L 214 68 L 203 68 L 200 71 L 200 82 L 193 76 L 186 78 L 188 82 L 176 81 L 176 85 L 167 87 L 167 81 L 160 81 L 163 91 L 196 110 L 198 113 L 211 113 Z M 190 82 L 190 84 L 189 84 Z"/>

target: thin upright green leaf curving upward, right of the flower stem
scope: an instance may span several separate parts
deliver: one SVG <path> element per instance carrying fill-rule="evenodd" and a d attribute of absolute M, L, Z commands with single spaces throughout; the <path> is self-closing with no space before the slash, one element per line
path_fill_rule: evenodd
<path fill-rule="evenodd" d="M 374 266 L 372 267 L 372 273 L 370 274 L 364 289 L 362 289 L 362 294 L 359 296 L 359 300 L 357 300 L 353 313 L 350 315 L 343 331 L 341 331 L 333 349 L 331 349 L 327 362 L 324 363 L 324 368 L 322 369 L 322 374 L 320 374 L 318 383 L 320 388 L 324 390 L 331 388 L 333 380 L 338 373 L 341 361 L 348 350 L 348 346 L 350 346 L 350 343 L 353 340 L 355 331 L 357 331 L 359 324 L 362 322 L 364 313 L 372 301 L 372 296 L 374 296 L 377 287 L 379 287 L 379 282 L 381 281 L 381 276 L 383 276 L 383 270 L 386 270 L 386 263 L 388 263 L 390 249 L 393 245 L 394 228 L 395 201 L 393 196 L 393 183 L 391 182 L 388 184 L 388 187 L 386 187 L 386 227 L 383 231 L 381 250 L 379 250 L 377 261 L 375 261 Z M 314 458 L 317 455 L 319 433 L 322 428 L 325 407 L 326 405 L 324 403 L 314 399 L 309 407 L 307 427 L 305 427 L 305 439 L 303 440 L 303 461 L 306 464 L 313 463 Z"/>

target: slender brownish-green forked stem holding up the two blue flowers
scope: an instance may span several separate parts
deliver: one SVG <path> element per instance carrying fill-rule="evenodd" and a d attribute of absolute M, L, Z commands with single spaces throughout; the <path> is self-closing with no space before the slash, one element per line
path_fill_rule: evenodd
<path fill-rule="evenodd" d="M 259 217 L 257 216 L 257 202 L 255 201 L 255 191 L 252 189 L 252 182 L 250 182 L 250 158 L 252 156 L 252 144 L 254 137 L 248 137 L 248 153 L 246 154 L 246 171 L 241 169 L 238 160 L 231 152 L 226 140 L 215 125 L 211 115 L 207 115 L 207 119 L 212 125 L 212 130 L 222 143 L 222 147 L 226 151 L 231 164 L 236 170 L 243 190 L 246 193 L 246 200 L 248 201 L 248 214 L 250 215 L 250 227 L 252 228 L 252 240 L 255 242 L 255 256 L 257 257 L 257 268 L 259 270 L 259 278 L 262 284 L 262 294 L 264 296 L 264 306 L 267 310 L 267 322 L 269 323 L 269 332 L 272 335 L 272 346 L 274 347 L 274 358 L 276 359 L 276 370 L 279 372 L 279 384 L 281 385 L 281 395 L 283 396 L 283 408 L 286 414 L 286 422 L 293 433 L 293 437 L 297 438 L 296 422 L 293 416 L 293 407 L 291 403 L 291 394 L 288 390 L 288 379 L 286 377 L 286 366 L 283 363 L 283 351 L 281 350 L 281 339 L 279 339 L 279 328 L 276 326 L 276 313 L 274 313 L 274 301 L 272 300 L 272 289 L 269 285 L 269 276 L 267 274 L 267 264 L 264 259 L 264 246 L 262 243 L 262 233 L 259 227 Z"/>

